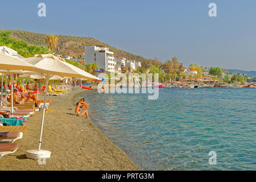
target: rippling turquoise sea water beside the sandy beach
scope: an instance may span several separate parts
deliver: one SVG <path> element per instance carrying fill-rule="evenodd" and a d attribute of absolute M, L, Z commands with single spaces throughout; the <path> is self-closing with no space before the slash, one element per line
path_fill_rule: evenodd
<path fill-rule="evenodd" d="M 158 100 L 81 97 L 92 121 L 141 169 L 256 170 L 256 89 L 159 89 Z M 210 151 L 216 165 L 208 163 Z"/>

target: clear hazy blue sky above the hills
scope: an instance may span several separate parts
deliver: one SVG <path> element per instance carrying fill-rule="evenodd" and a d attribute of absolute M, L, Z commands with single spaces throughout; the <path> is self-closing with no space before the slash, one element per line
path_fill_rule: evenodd
<path fill-rule="evenodd" d="M 90 36 L 147 59 L 256 71 L 255 0 L 1 1 L 4 30 Z"/>

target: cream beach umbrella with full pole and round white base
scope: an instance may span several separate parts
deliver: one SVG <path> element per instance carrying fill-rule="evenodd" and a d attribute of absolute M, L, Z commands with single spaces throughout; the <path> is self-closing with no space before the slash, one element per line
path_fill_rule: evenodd
<path fill-rule="evenodd" d="M 46 110 L 46 96 L 48 91 L 49 78 L 53 75 L 58 75 L 61 77 L 75 77 L 75 78 L 87 78 L 89 80 L 101 80 L 96 76 L 91 75 L 90 73 L 84 72 L 75 66 L 65 63 L 65 61 L 60 60 L 58 57 L 53 56 L 51 54 L 48 55 L 36 55 L 35 57 L 29 57 L 27 59 L 23 59 L 27 63 L 34 65 L 36 68 L 40 68 L 43 71 L 43 76 L 46 77 L 46 89 L 44 90 L 44 106 L 43 106 L 43 114 L 42 114 L 42 122 L 40 129 L 40 137 L 39 137 L 39 147 L 35 150 L 27 150 L 26 156 L 27 158 L 49 158 L 51 156 L 51 152 L 47 150 L 41 150 L 42 144 L 42 134 L 43 134 L 43 124 L 44 124 L 44 114 Z M 74 68 L 75 67 L 75 68 Z"/>

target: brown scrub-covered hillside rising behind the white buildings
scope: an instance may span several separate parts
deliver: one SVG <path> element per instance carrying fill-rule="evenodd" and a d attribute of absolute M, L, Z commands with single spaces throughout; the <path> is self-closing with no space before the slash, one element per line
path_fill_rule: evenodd
<path fill-rule="evenodd" d="M 0 32 L 11 32 L 10 38 L 15 40 L 24 40 L 24 42 L 36 46 L 47 46 L 44 42 L 44 37 L 46 34 L 38 34 L 34 32 L 28 31 L 20 31 L 20 30 L 0 30 Z M 114 52 L 115 57 L 126 57 L 129 60 L 150 60 L 145 59 L 142 56 L 134 55 L 130 52 L 122 51 L 121 49 L 109 46 L 106 43 L 102 43 L 94 38 L 86 38 L 86 37 L 77 37 L 77 36 L 65 36 L 65 35 L 55 35 L 59 38 L 59 49 L 55 49 L 54 52 L 59 55 L 64 56 L 74 56 L 79 58 L 84 53 L 84 45 L 86 46 L 104 46 L 109 47 L 109 50 Z M 152 60 L 150 60 L 152 61 Z"/>

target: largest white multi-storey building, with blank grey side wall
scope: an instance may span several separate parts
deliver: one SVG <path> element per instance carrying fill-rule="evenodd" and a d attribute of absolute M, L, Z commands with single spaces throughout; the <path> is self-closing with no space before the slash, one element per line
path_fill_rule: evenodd
<path fill-rule="evenodd" d="M 84 47 L 84 64 L 93 63 L 97 64 L 98 69 L 103 68 L 105 72 L 115 72 L 114 52 L 109 51 L 108 47 Z"/>

